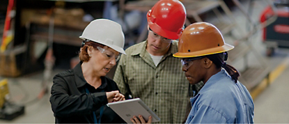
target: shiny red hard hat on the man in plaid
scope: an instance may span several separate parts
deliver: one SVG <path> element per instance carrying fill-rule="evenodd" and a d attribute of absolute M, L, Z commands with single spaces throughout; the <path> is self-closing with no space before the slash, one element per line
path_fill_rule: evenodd
<path fill-rule="evenodd" d="M 160 0 L 148 11 L 148 26 L 168 39 L 180 38 L 186 20 L 185 6 L 178 0 Z"/>

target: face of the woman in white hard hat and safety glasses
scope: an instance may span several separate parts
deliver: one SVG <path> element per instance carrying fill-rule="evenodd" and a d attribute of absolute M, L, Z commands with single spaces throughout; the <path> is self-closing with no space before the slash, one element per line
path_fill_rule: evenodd
<path fill-rule="evenodd" d="M 88 54 L 91 54 L 91 59 L 88 63 L 91 64 L 93 72 L 97 76 L 105 76 L 116 65 L 117 59 L 119 59 L 119 52 L 109 47 L 97 47 L 96 49 L 90 47 Z"/>

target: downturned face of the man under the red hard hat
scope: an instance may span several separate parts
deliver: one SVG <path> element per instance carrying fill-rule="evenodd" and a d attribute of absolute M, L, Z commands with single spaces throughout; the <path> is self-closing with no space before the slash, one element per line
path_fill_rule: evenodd
<path fill-rule="evenodd" d="M 154 56 L 163 56 L 166 52 L 169 51 L 171 45 L 171 40 L 159 36 L 157 33 L 148 31 L 148 45 L 146 50 Z"/>

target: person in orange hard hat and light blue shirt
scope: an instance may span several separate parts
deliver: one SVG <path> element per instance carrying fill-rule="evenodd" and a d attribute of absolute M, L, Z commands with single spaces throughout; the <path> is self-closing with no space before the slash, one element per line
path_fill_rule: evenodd
<path fill-rule="evenodd" d="M 205 85 L 194 98 L 186 123 L 253 123 L 254 105 L 239 72 L 226 64 L 227 51 L 220 31 L 207 22 L 189 25 L 180 36 L 178 52 L 190 84 Z M 224 68 L 224 69 L 223 69 Z"/>

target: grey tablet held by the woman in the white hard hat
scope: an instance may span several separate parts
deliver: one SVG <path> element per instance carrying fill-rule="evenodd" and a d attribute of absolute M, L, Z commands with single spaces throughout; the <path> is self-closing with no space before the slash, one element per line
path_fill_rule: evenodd
<path fill-rule="evenodd" d="M 146 121 L 148 121 L 148 116 L 152 116 L 152 123 L 160 121 L 159 117 L 140 98 L 110 102 L 107 106 L 111 107 L 127 123 L 132 123 L 130 118 L 139 115 L 143 116 Z"/>

